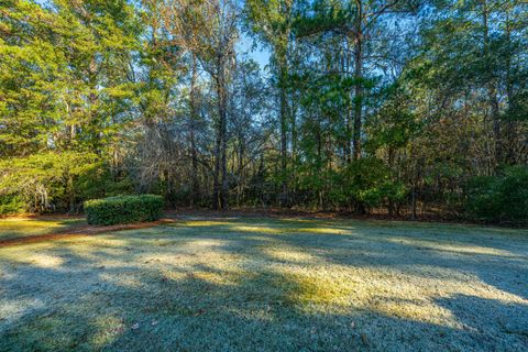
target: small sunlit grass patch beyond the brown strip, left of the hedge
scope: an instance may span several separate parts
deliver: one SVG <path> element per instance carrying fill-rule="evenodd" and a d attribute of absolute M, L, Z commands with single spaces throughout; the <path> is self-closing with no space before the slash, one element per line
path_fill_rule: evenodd
<path fill-rule="evenodd" d="M 86 224 L 84 218 L 7 218 L 0 219 L 0 241 L 62 232 Z"/>

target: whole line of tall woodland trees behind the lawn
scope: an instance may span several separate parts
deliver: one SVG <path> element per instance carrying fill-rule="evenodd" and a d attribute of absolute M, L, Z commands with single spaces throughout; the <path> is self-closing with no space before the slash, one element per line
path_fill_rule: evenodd
<path fill-rule="evenodd" d="M 151 193 L 522 223 L 528 4 L 4 0 L 0 155 L 0 213 Z"/>

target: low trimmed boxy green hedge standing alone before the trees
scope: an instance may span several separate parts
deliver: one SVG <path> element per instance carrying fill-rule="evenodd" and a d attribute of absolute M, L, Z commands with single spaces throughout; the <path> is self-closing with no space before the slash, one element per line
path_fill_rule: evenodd
<path fill-rule="evenodd" d="M 117 196 L 85 201 L 85 211 L 90 224 L 117 224 L 155 221 L 163 215 L 164 199 L 161 196 Z"/>

